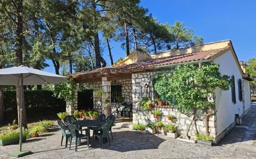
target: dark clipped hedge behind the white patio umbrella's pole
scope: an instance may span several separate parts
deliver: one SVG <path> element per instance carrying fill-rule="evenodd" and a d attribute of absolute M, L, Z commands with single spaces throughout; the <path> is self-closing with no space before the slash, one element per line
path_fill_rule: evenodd
<path fill-rule="evenodd" d="M 50 116 L 66 110 L 65 101 L 49 90 L 25 90 L 27 118 Z M 4 91 L 4 120 L 17 119 L 16 91 Z"/>

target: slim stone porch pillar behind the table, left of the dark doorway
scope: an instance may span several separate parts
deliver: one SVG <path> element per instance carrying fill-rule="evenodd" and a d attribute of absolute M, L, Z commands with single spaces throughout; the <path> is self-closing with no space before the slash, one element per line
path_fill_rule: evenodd
<path fill-rule="evenodd" d="M 101 87 L 103 90 L 102 102 L 101 102 L 101 113 L 104 113 L 105 100 L 111 98 L 111 81 L 107 81 L 107 77 L 102 77 Z"/>

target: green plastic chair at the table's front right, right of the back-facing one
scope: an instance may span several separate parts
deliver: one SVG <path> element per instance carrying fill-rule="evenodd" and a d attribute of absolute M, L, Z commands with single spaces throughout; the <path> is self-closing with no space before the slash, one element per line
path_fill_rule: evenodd
<path fill-rule="evenodd" d="M 108 119 L 106 122 L 104 122 L 104 124 L 101 125 L 101 127 L 99 127 L 100 133 L 95 135 L 99 139 L 99 147 L 101 149 L 103 149 L 103 138 L 107 137 L 107 139 L 109 140 L 109 129 L 111 128 L 113 123 L 114 121 L 112 121 L 111 119 Z M 109 145 L 110 145 L 110 140 L 109 140 Z"/>

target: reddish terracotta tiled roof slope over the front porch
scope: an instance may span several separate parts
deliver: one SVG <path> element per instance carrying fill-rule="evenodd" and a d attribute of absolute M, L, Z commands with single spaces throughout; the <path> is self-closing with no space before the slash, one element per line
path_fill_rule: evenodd
<path fill-rule="evenodd" d="M 147 72 L 156 69 L 157 67 L 165 67 L 172 64 L 180 64 L 184 62 L 193 61 L 205 61 L 213 59 L 217 54 L 222 53 L 228 49 L 219 48 L 211 49 L 208 51 L 196 51 L 188 54 L 178 54 L 174 56 L 168 56 L 164 58 L 145 59 L 142 61 L 134 62 L 132 64 L 126 64 L 122 66 L 103 67 L 94 69 L 92 71 L 77 72 L 71 76 L 75 80 L 89 79 L 92 77 L 102 77 L 104 75 L 116 75 L 116 74 L 132 74 L 135 72 Z"/>

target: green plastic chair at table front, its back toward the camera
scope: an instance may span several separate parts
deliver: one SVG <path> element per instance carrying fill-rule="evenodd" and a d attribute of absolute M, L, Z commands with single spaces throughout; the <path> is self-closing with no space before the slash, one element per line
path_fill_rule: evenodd
<path fill-rule="evenodd" d="M 76 143 L 75 143 L 75 151 L 77 152 L 77 147 L 81 142 L 81 139 L 87 139 L 87 148 L 89 148 L 89 137 L 88 135 L 84 135 L 84 134 L 79 134 L 78 131 L 80 131 L 80 129 L 78 129 L 75 125 L 67 123 L 68 125 L 68 129 L 70 130 L 70 148 L 71 148 L 71 142 L 72 139 L 75 138 L 76 139 Z"/>

